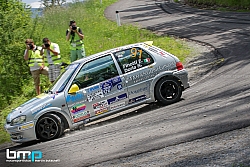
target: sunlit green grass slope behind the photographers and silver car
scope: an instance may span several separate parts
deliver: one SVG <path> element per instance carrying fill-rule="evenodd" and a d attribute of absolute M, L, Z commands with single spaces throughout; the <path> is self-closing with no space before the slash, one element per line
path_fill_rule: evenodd
<path fill-rule="evenodd" d="M 37 34 L 39 39 L 48 37 L 52 42 L 60 46 L 61 56 L 64 62 L 70 62 L 69 43 L 66 41 L 66 29 L 70 20 L 75 20 L 84 33 L 84 44 L 87 55 L 101 52 L 114 47 L 132 44 L 136 42 L 154 41 L 154 45 L 178 56 L 185 62 L 185 58 L 190 56 L 191 49 L 185 41 L 176 40 L 172 37 L 160 37 L 154 33 L 140 29 L 137 25 L 117 26 L 116 22 L 107 20 L 104 17 L 104 10 L 107 6 L 117 0 L 105 0 L 100 4 L 100 0 L 90 0 L 86 3 L 73 4 L 68 8 L 54 8 L 47 10 L 44 17 L 40 18 L 43 30 Z M 41 44 L 37 42 L 37 45 Z M 42 87 L 48 84 L 46 79 L 42 79 Z M 9 142 L 10 137 L 4 131 L 3 125 L 7 114 L 23 102 L 35 96 L 32 79 L 23 87 L 24 94 L 16 97 L 12 103 L 0 112 L 0 143 Z"/>

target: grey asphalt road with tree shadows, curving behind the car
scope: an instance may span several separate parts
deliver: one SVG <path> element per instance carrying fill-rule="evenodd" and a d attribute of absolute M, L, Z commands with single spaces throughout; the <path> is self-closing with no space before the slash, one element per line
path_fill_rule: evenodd
<path fill-rule="evenodd" d="M 204 11 L 175 3 L 120 0 L 105 15 L 159 34 L 200 41 L 216 48 L 223 63 L 183 93 L 183 100 L 143 105 L 115 119 L 57 140 L 11 150 L 41 150 L 48 163 L 14 166 L 89 166 L 250 126 L 250 14 Z M 6 150 L 0 152 L 0 166 Z"/>

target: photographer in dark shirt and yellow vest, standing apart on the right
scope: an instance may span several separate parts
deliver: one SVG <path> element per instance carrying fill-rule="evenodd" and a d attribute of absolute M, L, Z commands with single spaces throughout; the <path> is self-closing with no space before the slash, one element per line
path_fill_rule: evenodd
<path fill-rule="evenodd" d="M 74 20 L 70 21 L 69 29 L 66 31 L 66 40 L 70 41 L 70 61 L 85 57 L 85 49 L 83 44 L 84 35 L 80 27 L 77 27 Z"/>

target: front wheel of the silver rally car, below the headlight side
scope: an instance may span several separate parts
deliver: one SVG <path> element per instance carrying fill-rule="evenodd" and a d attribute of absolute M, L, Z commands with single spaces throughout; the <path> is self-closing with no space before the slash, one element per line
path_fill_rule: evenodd
<path fill-rule="evenodd" d="M 56 139 L 64 132 L 63 122 L 55 114 L 45 114 L 36 123 L 37 137 L 42 141 Z"/>

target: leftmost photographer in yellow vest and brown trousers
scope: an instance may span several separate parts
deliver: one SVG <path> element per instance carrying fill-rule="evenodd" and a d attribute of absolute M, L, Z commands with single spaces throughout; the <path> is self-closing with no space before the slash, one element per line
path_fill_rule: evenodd
<path fill-rule="evenodd" d="M 41 93 L 40 74 L 48 76 L 48 67 L 44 65 L 43 56 L 40 55 L 42 47 L 37 47 L 32 39 L 26 39 L 25 45 L 24 59 L 28 61 L 30 72 L 34 79 L 36 94 L 39 95 Z"/>

